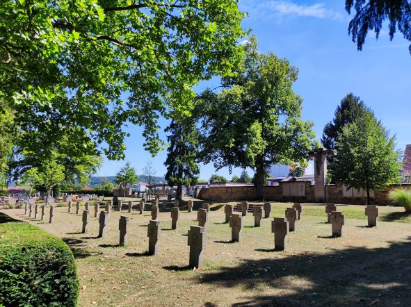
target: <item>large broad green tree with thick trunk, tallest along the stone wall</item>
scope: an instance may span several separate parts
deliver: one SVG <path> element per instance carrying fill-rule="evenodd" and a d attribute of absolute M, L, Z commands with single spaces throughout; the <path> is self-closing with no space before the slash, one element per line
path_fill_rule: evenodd
<path fill-rule="evenodd" d="M 292 85 L 298 69 L 274 53 L 260 53 L 257 40 L 245 45 L 238 75 L 223 78 L 223 90 L 198 97 L 204 134 L 202 159 L 221 167 L 255 169 L 257 199 L 273 164 L 293 164 L 314 147 L 312 123 L 300 118 L 301 99 Z"/>

